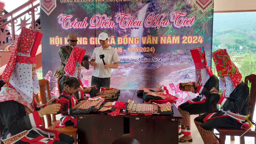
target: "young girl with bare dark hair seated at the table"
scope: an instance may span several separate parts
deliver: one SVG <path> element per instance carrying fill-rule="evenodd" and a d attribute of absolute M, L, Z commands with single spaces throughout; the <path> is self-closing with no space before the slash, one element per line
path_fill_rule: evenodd
<path fill-rule="evenodd" d="M 60 127 L 64 127 L 64 125 L 74 125 L 74 117 L 71 116 L 74 110 L 76 110 L 81 104 L 85 102 L 85 100 L 82 100 L 80 102 L 77 102 L 77 98 L 74 95 L 74 93 L 77 91 L 77 89 L 80 87 L 80 82 L 75 77 L 66 77 L 64 81 L 61 83 L 64 85 L 64 89 L 62 91 L 62 94 L 59 97 L 59 101 L 62 99 L 66 99 L 69 101 L 69 105 L 65 105 L 64 103 L 60 103 L 59 101 L 56 101 L 56 103 L 61 104 L 61 109 L 66 109 L 67 111 L 58 112 L 58 114 L 62 114 L 63 116 L 60 118 Z"/>

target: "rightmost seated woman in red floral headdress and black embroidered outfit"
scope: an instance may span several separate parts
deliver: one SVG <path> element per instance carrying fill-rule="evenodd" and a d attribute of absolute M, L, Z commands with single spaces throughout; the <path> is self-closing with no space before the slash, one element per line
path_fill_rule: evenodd
<path fill-rule="evenodd" d="M 212 133 L 214 128 L 243 128 L 250 126 L 247 121 L 249 106 L 249 88 L 242 82 L 242 75 L 231 62 L 226 49 L 219 49 L 212 53 L 216 70 L 220 77 L 221 94 L 211 89 L 207 97 L 210 103 L 222 105 L 216 113 L 204 114 L 194 119 L 195 125 L 205 144 L 219 143 Z"/>

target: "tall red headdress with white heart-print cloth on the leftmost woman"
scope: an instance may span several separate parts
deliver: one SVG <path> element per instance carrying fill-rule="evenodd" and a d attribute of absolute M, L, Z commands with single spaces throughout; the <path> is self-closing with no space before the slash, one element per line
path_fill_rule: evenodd
<path fill-rule="evenodd" d="M 36 64 L 41 38 L 41 33 L 23 27 L 3 72 L 5 83 L 12 85 L 29 103 L 33 101 L 33 91 L 39 92 L 37 76 L 32 78 L 32 64 Z"/>

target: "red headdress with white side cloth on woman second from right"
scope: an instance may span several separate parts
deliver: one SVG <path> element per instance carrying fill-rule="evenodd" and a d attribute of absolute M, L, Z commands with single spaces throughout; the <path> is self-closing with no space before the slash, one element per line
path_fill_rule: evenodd
<path fill-rule="evenodd" d="M 200 77 L 196 73 L 196 82 L 199 81 L 202 86 L 205 85 L 205 83 L 208 81 L 208 79 L 213 76 L 214 74 L 212 73 L 211 67 L 207 61 L 207 57 L 205 54 L 204 47 L 194 47 L 193 49 L 190 50 L 192 58 L 195 63 L 195 69 L 201 69 L 201 82 L 200 82 Z"/>

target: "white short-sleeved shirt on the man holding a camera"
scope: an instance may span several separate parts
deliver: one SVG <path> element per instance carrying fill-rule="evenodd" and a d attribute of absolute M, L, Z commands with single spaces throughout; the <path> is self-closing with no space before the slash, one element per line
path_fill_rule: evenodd
<path fill-rule="evenodd" d="M 107 64 L 112 65 L 112 62 L 119 62 L 120 58 L 115 49 L 111 46 L 106 48 L 103 51 L 102 46 L 96 47 L 92 54 L 92 59 L 95 59 L 97 66 L 94 67 L 92 76 L 99 77 L 99 78 L 109 78 L 111 76 L 111 68 L 104 69 L 104 64 L 102 59 L 100 59 L 100 55 L 104 54 L 104 61 Z"/>

